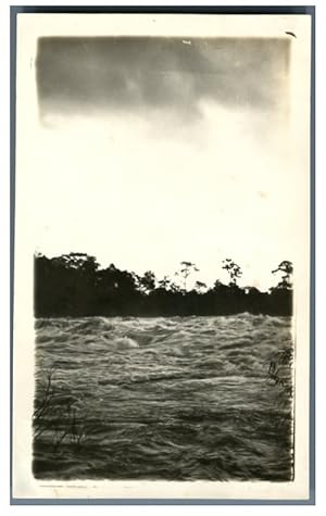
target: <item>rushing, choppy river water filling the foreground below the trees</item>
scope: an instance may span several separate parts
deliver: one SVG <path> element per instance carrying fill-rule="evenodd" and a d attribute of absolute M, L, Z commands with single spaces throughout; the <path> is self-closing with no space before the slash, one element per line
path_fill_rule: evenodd
<path fill-rule="evenodd" d="M 290 317 L 36 320 L 34 475 L 292 479 Z"/>

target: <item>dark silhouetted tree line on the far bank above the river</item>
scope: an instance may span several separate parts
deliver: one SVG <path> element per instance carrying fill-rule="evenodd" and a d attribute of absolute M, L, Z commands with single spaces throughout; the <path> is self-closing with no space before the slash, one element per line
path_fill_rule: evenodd
<path fill-rule="evenodd" d="M 34 259 L 36 317 L 292 314 L 293 266 L 289 261 L 271 272 L 278 280 L 261 292 L 255 287 L 239 287 L 242 269 L 231 259 L 222 263 L 228 284 L 216 279 L 209 287 L 197 280 L 191 289 L 189 279 L 199 268 L 187 261 L 173 277 L 159 279 L 152 270 L 139 276 L 113 264 L 101 268 L 86 253 L 52 259 L 37 253 Z"/>

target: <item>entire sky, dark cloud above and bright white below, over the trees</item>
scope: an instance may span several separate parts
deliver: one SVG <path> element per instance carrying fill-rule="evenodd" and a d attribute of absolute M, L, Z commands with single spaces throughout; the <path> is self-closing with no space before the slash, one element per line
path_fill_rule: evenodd
<path fill-rule="evenodd" d="M 275 285 L 300 209 L 289 60 L 288 38 L 40 38 L 37 251 L 208 285 L 230 257 Z"/>

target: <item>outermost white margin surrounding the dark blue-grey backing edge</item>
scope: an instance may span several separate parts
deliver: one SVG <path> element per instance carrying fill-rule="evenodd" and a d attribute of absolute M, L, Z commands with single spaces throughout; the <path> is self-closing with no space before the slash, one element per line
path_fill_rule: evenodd
<path fill-rule="evenodd" d="M 25 1 L 25 5 L 43 5 L 46 2 Z M 145 2 L 139 0 L 138 5 L 146 4 L 158 4 L 162 2 L 152 0 L 151 2 Z M 179 2 L 165 2 L 165 5 L 196 5 L 196 1 L 179 1 Z M 262 1 L 238 1 L 237 5 L 246 7 L 248 4 L 260 7 Z M 326 48 L 326 38 L 324 30 L 324 23 L 326 18 L 326 4 L 324 0 L 315 1 L 268 1 L 268 5 L 316 5 L 316 66 L 317 66 L 317 77 L 316 77 L 316 104 L 317 113 L 326 113 L 326 103 L 325 103 L 325 91 L 326 91 L 326 81 L 325 81 L 325 48 Z M 11 4 L 22 4 L 22 2 L 11 2 Z M 89 2 L 74 2 L 74 1 L 52 1 L 52 5 L 88 5 Z M 110 5 L 110 4 L 124 4 L 124 2 L 102 2 L 98 1 L 98 5 Z M 206 1 L 206 5 L 216 5 L 216 2 Z M 233 5 L 234 3 L 225 0 L 224 5 Z M 0 267 L 0 295 L 1 295 L 1 324 L 0 324 L 0 400 L 1 400 L 1 417 L 2 424 L 0 426 L 0 471 L 1 471 L 1 482 L 0 482 L 0 508 L 1 514 L 15 514 L 17 511 L 22 511 L 17 506 L 9 506 L 9 420 L 10 420 L 10 389 L 9 389 L 9 2 L 0 2 L 0 62 L 2 65 L 2 71 L 4 71 L 4 83 L 1 81 L 0 89 L 0 112 L 2 114 L 0 118 L 1 124 L 1 173 L 0 173 L 0 238 L 1 238 L 1 267 Z M 325 325 L 324 325 L 324 314 L 325 314 L 325 285 L 326 285 L 326 274 L 325 274 L 325 263 L 326 263 L 326 247 L 325 247 L 325 193 L 326 193 L 326 179 L 324 171 L 326 168 L 325 163 L 325 117 L 316 116 L 316 241 L 317 241 L 317 253 L 316 253 L 316 266 L 317 266 L 317 291 L 316 291 L 316 315 L 317 315 L 317 325 L 316 325 L 316 342 L 317 342 L 317 363 L 316 363 L 316 406 L 317 406 L 317 425 L 316 425 L 316 437 L 317 437 L 317 454 L 322 457 L 316 462 L 316 492 L 317 492 L 317 506 L 224 506 L 224 514 L 261 514 L 272 513 L 277 511 L 279 514 L 298 514 L 298 511 L 304 512 L 304 514 L 325 514 L 325 494 L 324 494 L 324 457 L 326 456 L 325 450 L 325 411 L 324 411 L 324 392 L 325 392 L 325 374 L 324 374 L 324 364 L 325 364 Z M 323 402 L 323 404 L 322 404 Z M 111 514 L 126 514 L 133 511 L 133 514 L 151 514 L 152 511 L 155 514 L 165 514 L 167 507 L 162 506 L 142 506 L 142 507 L 105 507 L 105 506 L 48 506 L 46 508 L 47 513 L 54 514 L 57 511 L 60 511 L 60 514 L 86 514 L 88 511 L 93 513 L 102 513 L 109 509 Z M 178 514 L 198 514 L 199 507 L 193 506 L 178 506 L 178 507 L 168 507 L 168 512 L 177 511 Z M 24 512 L 26 514 L 40 514 L 43 512 L 45 507 L 42 506 L 25 506 Z M 218 508 L 216 507 L 200 507 L 200 511 L 215 514 Z"/>

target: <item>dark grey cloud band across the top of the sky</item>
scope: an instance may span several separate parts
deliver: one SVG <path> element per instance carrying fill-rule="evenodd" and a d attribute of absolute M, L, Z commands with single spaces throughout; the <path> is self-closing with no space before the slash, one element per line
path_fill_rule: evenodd
<path fill-rule="evenodd" d="M 40 108 L 196 111 L 201 100 L 271 109 L 285 95 L 288 39 L 40 38 Z"/>

